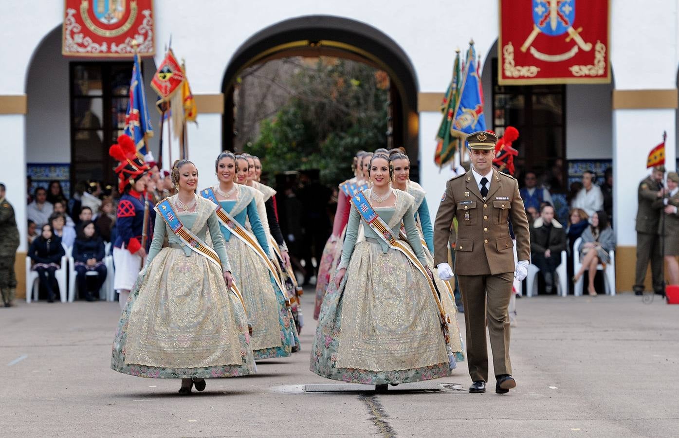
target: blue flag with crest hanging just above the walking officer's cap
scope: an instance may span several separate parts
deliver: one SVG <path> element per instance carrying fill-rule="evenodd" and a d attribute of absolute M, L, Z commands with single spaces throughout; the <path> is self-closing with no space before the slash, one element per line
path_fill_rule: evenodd
<path fill-rule="evenodd" d="M 458 136 L 464 137 L 476 131 L 485 130 L 483 101 L 481 101 L 481 79 L 476 69 L 476 50 L 469 45 L 464 62 L 465 69 L 460 83 L 460 103 L 455 111 L 455 121 L 451 128 Z"/>

